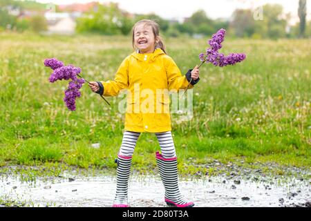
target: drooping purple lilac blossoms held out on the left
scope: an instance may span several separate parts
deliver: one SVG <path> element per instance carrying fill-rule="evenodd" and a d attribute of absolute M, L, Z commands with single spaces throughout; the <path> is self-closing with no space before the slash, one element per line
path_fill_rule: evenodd
<path fill-rule="evenodd" d="M 62 61 L 58 61 L 55 58 L 45 59 L 44 66 L 53 69 L 53 73 L 50 75 L 49 81 L 54 83 L 57 80 L 69 80 L 67 90 L 65 90 L 64 102 L 70 111 L 75 111 L 75 99 L 81 97 L 82 85 L 85 83 L 83 78 L 77 78 L 77 75 L 81 73 L 81 68 L 76 68 L 73 65 L 64 66 Z"/>

